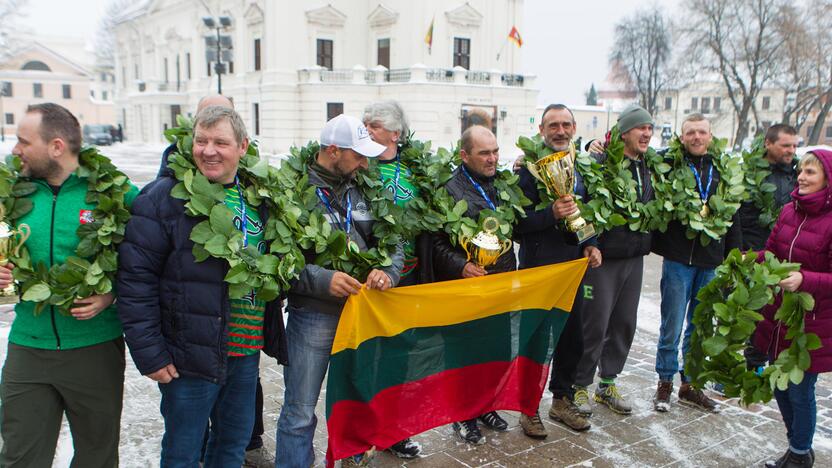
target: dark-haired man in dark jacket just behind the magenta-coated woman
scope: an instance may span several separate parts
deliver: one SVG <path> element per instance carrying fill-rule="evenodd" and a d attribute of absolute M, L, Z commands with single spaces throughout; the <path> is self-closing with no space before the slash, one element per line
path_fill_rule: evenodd
<path fill-rule="evenodd" d="M 792 190 L 797 185 L 797 170 L 794 164 L 794 152 L 797 149 L 797 130 L 791 125 L 775 124 L 766 131 L 764 157 L 769 163 L 769 174 L 765 183 L 774 185 L 774 207 L 780 211 L 792 199 Z M 762 250 L 771 234 L 768 225 L 761 224 L 758 200 L 749 200 L 740 207 L 742 222 L 742 249 Z M 776 219 L 772 220 L 772 223 Z"/>

